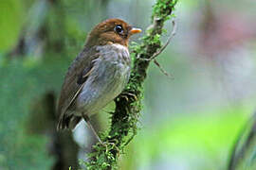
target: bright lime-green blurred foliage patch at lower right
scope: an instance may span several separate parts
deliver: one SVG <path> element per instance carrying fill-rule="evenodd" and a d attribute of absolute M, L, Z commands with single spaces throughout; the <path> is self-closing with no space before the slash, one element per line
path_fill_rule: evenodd
<path fill-rule="evenodd" d="M 150 107 L 150 106 L 146 106 Z M 161 124 L 148 125 L 139 131 L 133 140 L 131 153 L 128 150 L 128 164 L 135 166 L 152 164 L 152 160 L 168 159 L 181 155 L 184 164 L 193 164 L 193 155 L 203 158 L 190 169 L 225 169 L 229 157 L 229 146 L 233 144 L 240 127 L 247 121 L 251 108 L 220 107 L 196 112 L 176 112 L 180 116 L 167 117 Z M 207 115 L 207 116 L 205 116 Z M 131 149 L 131 148 L 130 148 Z M 134 159 L 133 156 L 137 155 Z M 132 158 L 132 161 L 131 161 Z M 194 157 L 193 157 L 194 158 Z M 214 160 L 214 161 L 212 161 Z M 125 160 L 126 161 L 126 160 Z M 218 162 L 218 163 L 216 163 Z"/>

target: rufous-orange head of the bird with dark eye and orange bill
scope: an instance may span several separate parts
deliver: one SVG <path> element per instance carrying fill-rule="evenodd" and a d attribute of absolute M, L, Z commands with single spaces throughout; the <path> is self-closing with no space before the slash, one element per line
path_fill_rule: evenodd
<path fill-rule="evenodd" d="M 128 46 L 129 38 L 139 32 L 141 32 L 141 29 L 130 26 L 120 19 L 108 19 L 93 28 L 88 35 L 85 46 L 91 47 L 111 43 Z"/>

